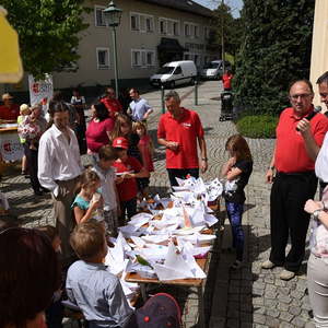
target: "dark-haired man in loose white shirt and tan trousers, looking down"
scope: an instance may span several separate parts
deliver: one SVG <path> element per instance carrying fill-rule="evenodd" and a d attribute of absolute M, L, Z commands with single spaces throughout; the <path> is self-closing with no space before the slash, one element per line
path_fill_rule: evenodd
<path fill-rule="evenodd" d="M 52 192 L 56 227 L 61 238 L 63 261 L 73 254 L 69 237 L 73 227 L 71 204 L 82 173 L 77 137 L 69 128 L 69 108 L 63 102 L 50 102 L 52 126 L 42 136 L 38 150 L 38 179 Z"/>

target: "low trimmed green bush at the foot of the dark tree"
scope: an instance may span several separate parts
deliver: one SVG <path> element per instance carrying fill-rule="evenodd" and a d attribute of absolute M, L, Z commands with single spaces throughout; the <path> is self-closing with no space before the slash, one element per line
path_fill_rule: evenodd
<path fill-rule="evenodd" d="M 243 116 L 236 122 L 241 134 L 248 138 L 276 138 L 278 117 L 270 115 Z"/>

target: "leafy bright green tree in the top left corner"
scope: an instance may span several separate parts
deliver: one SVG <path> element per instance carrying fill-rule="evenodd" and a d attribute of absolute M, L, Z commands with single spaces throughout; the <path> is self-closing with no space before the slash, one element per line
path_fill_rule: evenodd
<path fill-rule="evenodd" d="M 20 37 L 24 70 L 36 78 L 73 70 L 79 55 L 78 33 L 83 22 L 83 0 L 2 0 L 8 20 Z"/>

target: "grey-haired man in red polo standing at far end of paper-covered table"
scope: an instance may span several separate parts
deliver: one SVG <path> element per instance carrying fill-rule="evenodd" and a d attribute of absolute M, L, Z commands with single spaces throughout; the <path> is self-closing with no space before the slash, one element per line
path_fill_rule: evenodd
<path fill-rule="evenodd" d="M 176 177 L 187 175 L 198 178 L 208 168 L 207 145 L 203 129 L 197 113 L 180 107 L 177 92 L 165 95 L 167 113 L 161 116 L 157 129 L 159 143 L 166 147 L 166 168 L 171 186 L 177 186 Z M 198 160 L 197 143 L 201 161 Z"/>

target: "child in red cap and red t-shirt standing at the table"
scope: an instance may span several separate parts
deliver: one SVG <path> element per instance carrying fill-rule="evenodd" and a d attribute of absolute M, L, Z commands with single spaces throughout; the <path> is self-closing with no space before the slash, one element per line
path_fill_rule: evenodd
<path fill-rule="evenodd" d="M 142 167 L 137 159 L 128 156 L 129 141 L 126 138 L 114 139 L 113 148 L 116 149 L 118 155 L 113 164 L 116 168 L 116 184 L 121 212 L 118 221 L 120 225 L 124 225 L 126 211 L 129 219 L 137 213 L 138 185 L 136 178 L 149 177 L 149 172 Z"/>

